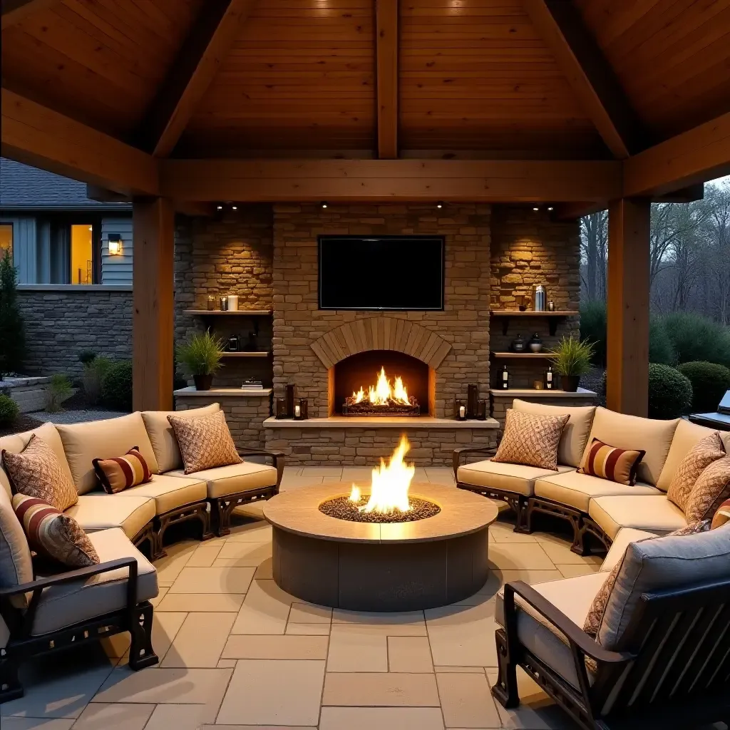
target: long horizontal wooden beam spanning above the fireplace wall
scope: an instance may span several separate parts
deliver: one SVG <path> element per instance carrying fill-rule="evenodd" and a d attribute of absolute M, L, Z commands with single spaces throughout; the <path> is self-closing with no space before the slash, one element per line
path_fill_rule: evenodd
<path fill-rule="evenodd" d="M 161 194 L 240 202 L 552 202 L 621 197 L 621 162 L 526 160 L 160 161 Z"/>

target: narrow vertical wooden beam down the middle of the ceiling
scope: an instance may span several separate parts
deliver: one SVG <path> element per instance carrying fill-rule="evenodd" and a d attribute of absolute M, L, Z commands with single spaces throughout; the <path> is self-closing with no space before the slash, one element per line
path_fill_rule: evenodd
<path fill-rule="evenodd" d="M 398 157 L 398 0 L 375 0 L 377 156 Z"/>

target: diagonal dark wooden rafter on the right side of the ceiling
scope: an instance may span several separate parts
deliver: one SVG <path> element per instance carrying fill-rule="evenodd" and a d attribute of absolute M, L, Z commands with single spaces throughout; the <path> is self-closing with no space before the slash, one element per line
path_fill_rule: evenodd
<path fill-rule="evenodd" d="M 572 0 L 523 4 L 612 155 L 625 159 L 648 147 L 644 124 Z"/>

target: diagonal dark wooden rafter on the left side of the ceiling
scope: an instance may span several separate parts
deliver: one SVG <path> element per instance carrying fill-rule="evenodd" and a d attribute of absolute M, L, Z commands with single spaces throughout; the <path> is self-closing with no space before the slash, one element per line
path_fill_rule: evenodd
<path fill-rule="evenodd" d="M 254 0 L 208 0 L 139 127 L 140 146 L 167 157 L 226 59 Z"/>

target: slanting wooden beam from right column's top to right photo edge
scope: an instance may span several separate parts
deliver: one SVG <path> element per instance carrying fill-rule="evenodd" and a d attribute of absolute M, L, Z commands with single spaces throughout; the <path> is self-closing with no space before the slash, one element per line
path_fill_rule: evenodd
<path fill-rule="evenodd" d="M 730 112 L 623 163 L 623 194 L 657 196 L 730 174 Z"/>

